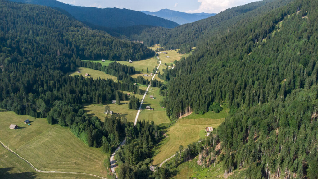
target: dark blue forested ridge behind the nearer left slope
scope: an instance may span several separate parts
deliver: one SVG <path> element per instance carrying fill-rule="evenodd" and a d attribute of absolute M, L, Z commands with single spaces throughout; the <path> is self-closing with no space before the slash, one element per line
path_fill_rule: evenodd
<path fill-rule="evenodd" d="M 13 2 L 38 4 L 65 10 L 74 18 L 84 23 L 90 23 L 107 28 L 129 27 L 135 25 L 151 25 L 174 28 L 179 24 L 170 20 L 146 15 L 139 11 L 118 8 L 81 7 L 64 4 L 56 0 L 10 0 Z"/>

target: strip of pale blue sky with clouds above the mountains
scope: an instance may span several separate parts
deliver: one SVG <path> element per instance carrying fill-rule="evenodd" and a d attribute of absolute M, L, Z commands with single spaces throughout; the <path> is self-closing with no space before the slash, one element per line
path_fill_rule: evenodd
<path fill-rule="evenodd" d="M 66 4 L 86 7 L 117 7 L 135 11 L 170 9 L 187 13 L 219 13 L 225 9 L 257 0 L 58 0 Z"/>

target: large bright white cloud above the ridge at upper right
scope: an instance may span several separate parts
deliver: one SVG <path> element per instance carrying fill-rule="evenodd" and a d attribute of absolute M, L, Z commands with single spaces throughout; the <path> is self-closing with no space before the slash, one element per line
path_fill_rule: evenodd
<path fill-rule="evenodd" d="M 187 13 L 207 12 L 219 13 L 230 7 L 244 5 L 257 0 L 198 0 L 199 9 L 186 11 Z"/>

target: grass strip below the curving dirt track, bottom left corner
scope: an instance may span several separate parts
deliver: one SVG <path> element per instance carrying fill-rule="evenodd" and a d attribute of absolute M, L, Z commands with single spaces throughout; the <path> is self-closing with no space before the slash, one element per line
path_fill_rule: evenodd
<path fill-rule="evenodd" d="M 24 160 L 0 146 L 0 178 L 10 179 L 96 179 L 89 175 L 40 173 L 36 172 Z"/>

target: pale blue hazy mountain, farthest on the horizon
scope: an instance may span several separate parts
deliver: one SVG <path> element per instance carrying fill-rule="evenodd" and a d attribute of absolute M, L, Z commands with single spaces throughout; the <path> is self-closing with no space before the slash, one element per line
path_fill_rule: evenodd
<path fill-rule="evenodd" d="M 186 24 L 195 22 L 197 20 L 205 19 L 211 16 L 216 15 L 216 13 L 209 14 L 209 13 L 185 13 L 185 12 L 179 12 L 179 11 L 173 11 L 169 9 L 162 9 L 157 12 L 149 12 L 149 11 L 141 11 L 148 15 L 157 16 L 160 18 L 168 19 L 173 22 L 176 22 L 178 24 Z"/>

